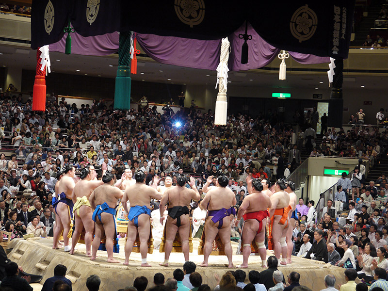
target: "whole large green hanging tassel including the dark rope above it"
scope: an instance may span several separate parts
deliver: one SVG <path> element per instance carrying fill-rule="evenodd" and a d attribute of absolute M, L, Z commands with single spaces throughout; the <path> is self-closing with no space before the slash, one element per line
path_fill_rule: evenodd
<path fill-rule="evenodd" d="M 130 107 L 130 37 L 131 32 L 120 32 L 114 109 L 129 110 Z"/>

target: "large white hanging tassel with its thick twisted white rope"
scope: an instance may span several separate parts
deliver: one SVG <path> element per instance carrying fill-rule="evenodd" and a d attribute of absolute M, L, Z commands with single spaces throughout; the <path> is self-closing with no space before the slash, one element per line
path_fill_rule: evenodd
<path fill-rule="evenodd" d="M 220 64 L 217 67 L 217 83 L 215 88 L 218 85 L 218 94 L 217 101 L 215 102 L 215 114 L 214 114 L 214 124 L 215 125 L 226 125 L 226 115 L 227 115 L 227 72 L 229 68 L 227 67 L 227 61 L 229 59 L 229 48 L 230 43 L 226 38 L 222 39 L 221 42 L 221 54 L 220 54 Z"/>

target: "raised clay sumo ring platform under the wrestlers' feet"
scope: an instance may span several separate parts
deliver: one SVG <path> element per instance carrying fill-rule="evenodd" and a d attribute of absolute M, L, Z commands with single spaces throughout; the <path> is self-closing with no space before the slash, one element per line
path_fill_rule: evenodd
<path fill-rule="evenodd" d="M 116 259 L 124 261 L 124 239 L 120 239 L 120 253 L 114 254 Z M 199 240 L 193 239 L 194 252 L 190 253 L 190 260 L 195 263 L 202 262 L 203 257 L 197 254 Z M 154 250 L 152 255 L 148 254 L 147 261 L 152 267 L 140 267 L 141 256 L 139 253 L 132 253 L 129 260 L 129 266 L 122 263 L 107 263 L 106 252 L 98 251 L 95 261 L 85 258 L 85 245 L 77 244 L 78 250 L 75 255 L 65 253 L 63 249 L 53 250 L 52 238 L 32 238 L 28 240 L 14 239 L 8 244 L 11 252 L 8 257 L 17 262 L 23 267 L 23 270 L 30 274 L 42 275 L 43 282 L 53 276 L 54 267 L 57 264 L 63 264 L 67 267 L 66 277 L 73 283 L 73 291 L 85 290 L 86 279 L 89 275 L 96 274 L 101 278 L 100 290 L 116 291 L 126 286 L 132 286 L 133 280 L 137 276 L 146 276 L 148 279 L 148 287 L 152 287 L 153 276 L 155 273 L 162 273 L 165 278 L 173 277 L 173 272 L 176 268 L 182 268 L 184 259 L 182 253 L 172 253 L 170 256 L 169 267 L 161 267 L 159 263 L 164 259 L 164 253 L 159 250 Z M 233 254 L 236 253 L 238 243 L 232 242 Z M 271 253 L 268 252 L 267 256 Z M 306 285 L 313 291 L 322 290 L 325 288 L 323 278 L 327 274 L 333 274 L 337 278 L 337 284 L 344 284 L 344 269 L 330 266 L 327 268 L 323 263 L 292 257 L 292 264 L 279 267 L 285 276 L 292 271 L 301 274 L 301 285 Z M 209 267 L 197 267 L 196 272 L 203 277 L 204 284 L 208 284 L 211 288 L 217 284 L 214 277 L 218 274 L 220 277 L 229 269 L 226 267 L 227 259 L 225 256 L 210 256 Z M 233 255 L 233 263 L 238 266 L 242 263 L 242 255 Z M 238 269 L 237 267 L 233 270 Z M 259 256 L 251 256 L 249 258 L 249 268 L 245 269 L 248 273 L 250 270 L 261 272 L 261 259 Z M 246 276 L 246 282 L 248 276 Z"/>

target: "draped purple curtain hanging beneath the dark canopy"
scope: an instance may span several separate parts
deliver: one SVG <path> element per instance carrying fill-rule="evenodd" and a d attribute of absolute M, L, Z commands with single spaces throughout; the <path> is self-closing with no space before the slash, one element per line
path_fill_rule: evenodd
<path fill-rule="evenodd" d="M 241 64 L 241 48 L 243 39 L 240 33 L 245 32 L 245 25 L 231 34 L 231 52 L 229 69 L 231 71 L 258 69 L 271 63 L 280 52 L 248 25 L 248 63 Z M 72 53 L 81 55 L 109 55 L 118 51 L 119 34 L 117 32 L 97 36 L 83 37 L 77 32 L 72 33 Z M 138 44 L 146 54 L 155 61 L 167 64 L 192 67 L 197 69 L 216 70 L 220 61 L 221 40 L 196 40 L 155 34 L 136 34 Z M 57 43 L 49 45 L 50 51 L 65 52 L 66 35 Z M 329 57 L 290 52 L 291 57 L 301 64 L 329 63 Z M 280 64 L 280 63 L 279 63 Z"/>

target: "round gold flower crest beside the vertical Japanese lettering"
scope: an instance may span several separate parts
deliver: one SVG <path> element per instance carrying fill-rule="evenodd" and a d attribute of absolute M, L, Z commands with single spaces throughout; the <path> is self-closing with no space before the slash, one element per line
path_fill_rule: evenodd
<path fill-rule="evenodd" d="M 308 5 L 299 7 L 291 17 L 290 30 L 299 42 L 310 39 L 317 30 L 317 15 Z"/>

